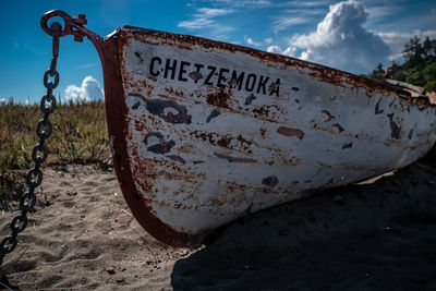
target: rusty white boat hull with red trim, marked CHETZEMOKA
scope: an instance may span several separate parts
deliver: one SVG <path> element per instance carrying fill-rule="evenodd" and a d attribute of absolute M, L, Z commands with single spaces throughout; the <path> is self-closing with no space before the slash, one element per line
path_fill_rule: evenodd
<path fill-rule="evenodd" d="M 194 36 L 100 38 L 74 20 L 101 59 L 125 201 L 167 244 L 404 167 L 436 141 L 435 106 L 410 89 Z"/>

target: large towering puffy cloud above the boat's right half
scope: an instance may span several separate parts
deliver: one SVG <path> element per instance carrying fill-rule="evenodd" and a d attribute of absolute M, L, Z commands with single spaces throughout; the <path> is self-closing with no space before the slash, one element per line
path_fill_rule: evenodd
<path fill-rule="evenodd" d="M 295 35 L 282 51 L 299 58 L 353 73 L 367 73 L 390 54 L 382 37 L 363 27 L 367 12 L 362 3 L 348 0 L 330 5 L 315 32 Z"/>

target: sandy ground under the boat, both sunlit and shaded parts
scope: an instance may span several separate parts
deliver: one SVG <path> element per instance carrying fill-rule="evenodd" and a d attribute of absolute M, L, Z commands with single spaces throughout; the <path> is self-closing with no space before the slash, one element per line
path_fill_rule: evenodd
<path fill-rule="evenodd" d="M 164 245 L 113 172 L 51 166 L 3 282 L 22 290 L 436 290 L 436 172 L 414 163 Z M 2 238 L 12 214 L 0 217 Z"/>

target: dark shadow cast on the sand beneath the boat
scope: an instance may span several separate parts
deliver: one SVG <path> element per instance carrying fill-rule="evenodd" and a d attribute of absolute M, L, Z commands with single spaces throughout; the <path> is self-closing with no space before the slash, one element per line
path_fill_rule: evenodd
<path fill-rule="evenodd" d="M 436 174 L 412 165 L 252 215 L 175 263 L 174 290 L 436 289 Z"/>

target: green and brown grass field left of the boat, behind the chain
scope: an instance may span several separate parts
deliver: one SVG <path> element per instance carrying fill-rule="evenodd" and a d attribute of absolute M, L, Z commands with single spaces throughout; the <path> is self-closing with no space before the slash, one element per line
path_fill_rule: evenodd
<path fill-rule="evenodd" d="M 36 124 L 43 113 L 38 105 L 12 101 L 0 106 L 0 201 L 21 195 L 26 170 L 33 167 L 32 149 L 37 143 Z M 50 116 L 53 132 L 47 140 L 47 163 L 94 163 L 96 169 L 112 170 L 105 104 L 58 105 Z M 4 204 L 3 204 L 4 206 Z"/>

